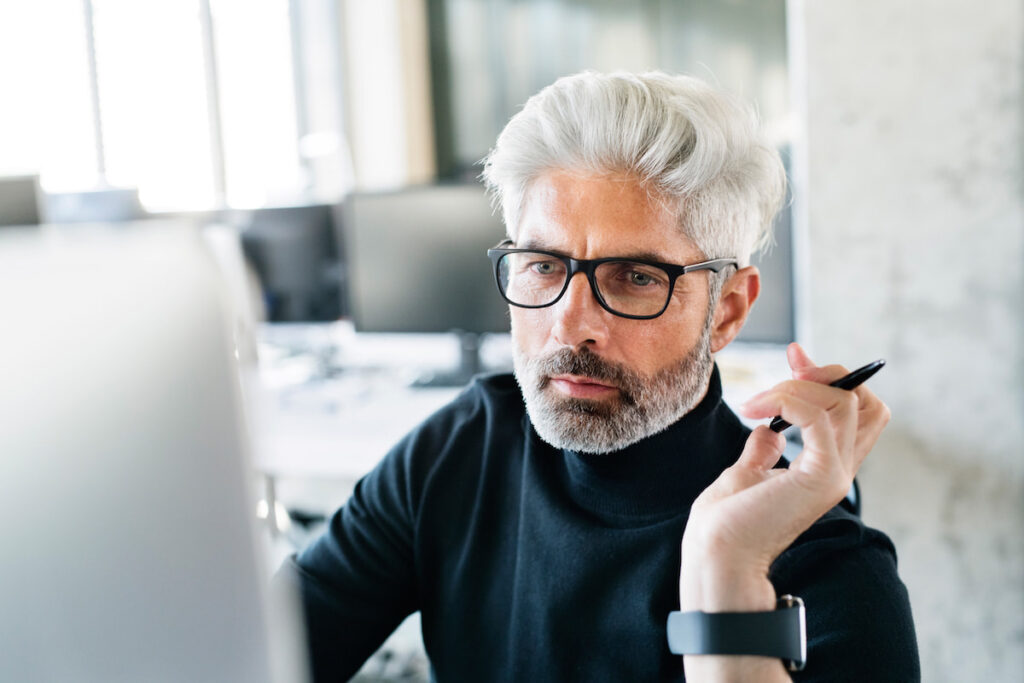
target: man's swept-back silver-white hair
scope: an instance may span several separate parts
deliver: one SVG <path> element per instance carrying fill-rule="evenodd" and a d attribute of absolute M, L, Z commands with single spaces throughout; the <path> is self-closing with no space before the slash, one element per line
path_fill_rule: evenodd
<path fill-rule="evenodd" d="M 511 239 L 530 183 L 551 170 L 635 176 L 706 257 L 741 266 L 771 242 L 785 194 L 782 162 L 751 108 L 660 72 L 566 76 L 512 117 L 482 173 Z"/>

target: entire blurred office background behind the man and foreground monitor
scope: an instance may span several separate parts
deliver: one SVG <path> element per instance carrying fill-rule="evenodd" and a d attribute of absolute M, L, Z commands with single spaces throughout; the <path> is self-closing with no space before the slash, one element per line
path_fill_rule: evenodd
<path fill-rule="evenodd" d="M 507 367 L 475 178 L 530 94 L 660 69 L 757 102 L 793 202 L 726 379 L 763 388 L 793 339 L 886 357 L 863 515 L 896 543 L 925 680 L 1024 676 L 1019 1 L 38 0 L 0 4 L 0 226 L 173 221 L 233 254 L 284 549 L 457 390 L 411 381 Z M 398 424 L 367 408 L 395 401 Z M 413 680 L 415 647 L 366 676 Z"/>

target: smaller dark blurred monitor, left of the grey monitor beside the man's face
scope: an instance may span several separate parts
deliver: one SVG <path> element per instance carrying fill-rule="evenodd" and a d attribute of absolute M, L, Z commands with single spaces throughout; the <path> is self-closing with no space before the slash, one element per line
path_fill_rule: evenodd
<path fill-rule="evenodd" d="M 259 276 L 267 321 L 330 322 L 345 313 L 334 214 L 329 205 L 224 213 Z"/>

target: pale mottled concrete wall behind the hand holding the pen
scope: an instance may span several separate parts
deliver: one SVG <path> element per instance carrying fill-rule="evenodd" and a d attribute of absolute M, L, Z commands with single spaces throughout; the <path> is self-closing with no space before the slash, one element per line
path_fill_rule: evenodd
<path fill-rule="evenodd" d="M 1024 3 L 791 0 L 814 355 L 884 356 L 861 473 L 924 680 L 1024 680 Z"/>

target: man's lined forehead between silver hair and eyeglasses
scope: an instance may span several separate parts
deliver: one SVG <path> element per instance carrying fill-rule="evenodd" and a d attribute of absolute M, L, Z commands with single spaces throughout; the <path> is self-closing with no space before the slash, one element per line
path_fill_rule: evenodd
<path fill-rule="evenodd" d="M 577 258 L 637 256 L 673 263 L 701 258 L 671 206 L 626 174 L 555 170 L 526 191 L 516 246 Z"/>

